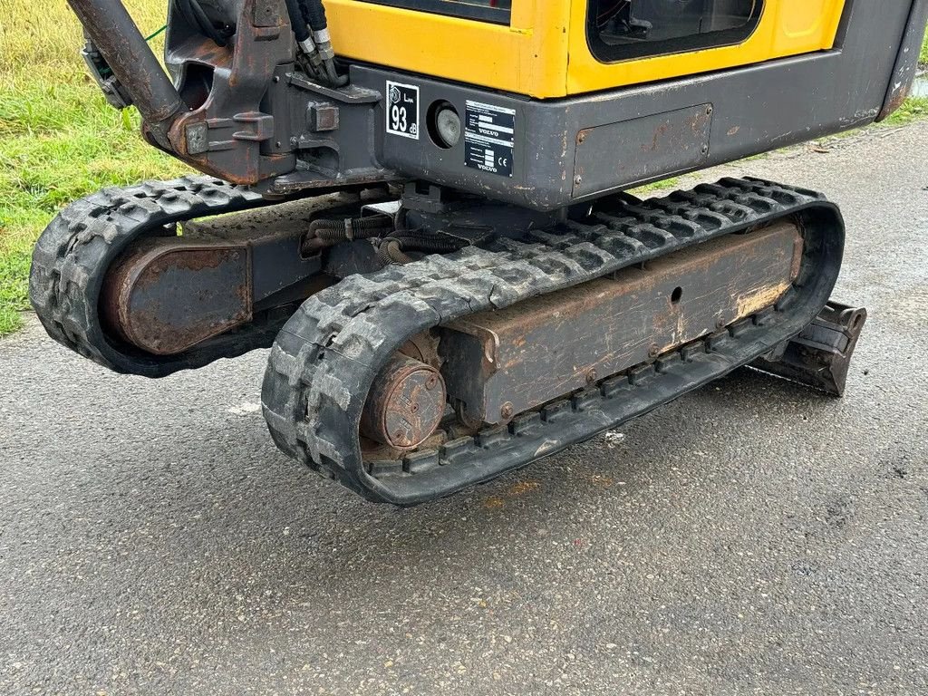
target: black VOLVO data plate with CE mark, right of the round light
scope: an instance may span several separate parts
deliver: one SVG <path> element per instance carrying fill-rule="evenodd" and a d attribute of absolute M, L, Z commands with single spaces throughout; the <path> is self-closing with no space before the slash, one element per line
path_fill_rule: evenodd
<path fill-rule="evenodd" d="M 482 172 L 512 176 L 515 110 L 469 100 L 465 116 L 464 164 Z"/>

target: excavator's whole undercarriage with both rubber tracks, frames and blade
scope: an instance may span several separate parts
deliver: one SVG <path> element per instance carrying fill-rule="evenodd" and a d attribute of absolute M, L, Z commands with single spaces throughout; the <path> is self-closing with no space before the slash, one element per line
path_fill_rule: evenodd
<path fill-rule="evenodd" d="M 128 374 L 270 347 L 277 445 L 396 505 L 736 367 L 844 389 L 865 314 L 828 303 L 844 227 L 817 193 L 726 179 L 560 215 L 397 193 L 273 203 L 205 177 L 105 189 L 46 230 L 33 302 L 58 341 Z"/>

